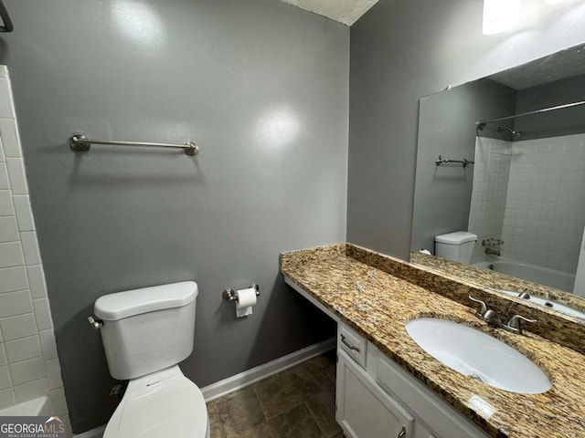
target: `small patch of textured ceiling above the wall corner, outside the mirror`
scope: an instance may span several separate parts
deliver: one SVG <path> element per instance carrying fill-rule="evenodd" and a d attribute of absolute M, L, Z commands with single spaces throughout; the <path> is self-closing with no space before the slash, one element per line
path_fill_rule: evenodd
<path fill-rule="evenodd" d="M 357 18 L 378 0 L 281 0 L 289 5 L 298 6 L 305 11 L 326 16 L 346 26 L 356 23 Z"/>

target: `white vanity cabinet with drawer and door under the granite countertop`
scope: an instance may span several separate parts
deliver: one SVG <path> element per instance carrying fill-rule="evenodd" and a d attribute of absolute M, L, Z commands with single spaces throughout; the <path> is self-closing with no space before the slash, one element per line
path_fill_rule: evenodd
<path fill-rule="evenodd" d="M 335 418 L 347 438 L 488 436 L 343 322 L 335 395 Z"/>

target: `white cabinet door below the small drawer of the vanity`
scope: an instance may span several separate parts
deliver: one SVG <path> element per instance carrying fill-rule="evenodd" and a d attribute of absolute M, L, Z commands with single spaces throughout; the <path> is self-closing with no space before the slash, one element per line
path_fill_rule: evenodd
<path fill-rule="evenodd" d="M 337 422 L 348 438 L 410 438 L 414 419 L 356 361 L 337 349 Z"/>

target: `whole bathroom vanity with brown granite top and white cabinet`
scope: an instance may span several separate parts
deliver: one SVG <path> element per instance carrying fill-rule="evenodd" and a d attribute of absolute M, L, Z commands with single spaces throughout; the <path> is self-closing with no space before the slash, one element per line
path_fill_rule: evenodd
<path fill-rule="evenodd" d="M 583 348 L 582 324 L 545 310 L 532 329 L 548 338 L 528 325 L 521 335 L 490 327 L 475 317 L 468 296 L 503 314 L 526 310 L 534 318 L 538 310 L 356 245 L 284 253 L 281 271 L 294 290 L 337 321 L 336 418 L 346 436 L 585 433 L 585 356 L 576 350 Z M 504 391 L 443 365 L 406 331 L 411 319 L 424 317 L 449 319 L 505 342 L 545 372 L 551 389 Z"/>

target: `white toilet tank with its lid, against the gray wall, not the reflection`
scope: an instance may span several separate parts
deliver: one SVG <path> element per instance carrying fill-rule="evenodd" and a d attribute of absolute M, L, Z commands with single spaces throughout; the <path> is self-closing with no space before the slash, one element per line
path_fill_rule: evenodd
<path fill-rule="evenodd" d="M 135 379 L 176 365 L 193 351 L 197 283 L 185 281 L 105 295 L 94 313 L 110 374 Z"/>

